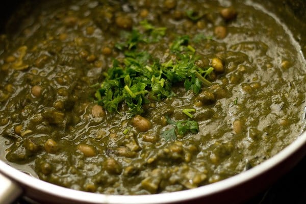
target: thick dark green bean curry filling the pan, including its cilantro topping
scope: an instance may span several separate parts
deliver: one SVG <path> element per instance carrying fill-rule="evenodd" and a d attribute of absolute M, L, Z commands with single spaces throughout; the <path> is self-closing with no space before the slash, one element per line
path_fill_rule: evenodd
<path fill-rule="evenodd" d="M 272 16 L 249 1 L 37 4 L 0 36 L 1 159 L 125 195 L 264 162 L 305 127 L 305 61 Z"/>

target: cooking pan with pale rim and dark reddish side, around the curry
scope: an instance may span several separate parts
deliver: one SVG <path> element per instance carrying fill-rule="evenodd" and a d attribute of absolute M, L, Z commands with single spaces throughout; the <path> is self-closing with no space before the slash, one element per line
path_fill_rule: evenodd
<path fill-rule="evenodd" d="M 244 2 L 244 1 L 241 1 Z M 263 1 L 253 1 L 261 3 Z M 4 30 L 18 1 L 1 4 L 0 30 Z M 278 16 L 292 32 L 301 53 L 306 56 L 306 2 L 304 0 L 265 1 L 264 7 Z M 302 113 L 301 113 L 302 114 Z M 1 147 L 0 147 L 1 148 Z M 71 190 L 43 182 L 0 161 L 0 203 L 26 196 L 41 203 L 233 203 L 241 202 L 293 168 L 306 155 L 306 133 L 277 155 L 229 179 L 191 190 L 154 195 L 105 195 Z"/>

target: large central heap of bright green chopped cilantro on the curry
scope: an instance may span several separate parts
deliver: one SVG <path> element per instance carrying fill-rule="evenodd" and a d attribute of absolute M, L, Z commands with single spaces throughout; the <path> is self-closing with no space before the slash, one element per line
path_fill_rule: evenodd
<path fill-rule="evenodd" d="M 118 112 L 125 103 L 131 115 L 143 113 L 143 104 L 160 100 L 174 94 L 172 86 L 184 82 L 186 90 L 199 93 L 202 86 L 210 86 L 206 78 L 213 71 L 195 65 L 195 49 L 189 44 L 189 36 L 178 37 L 170 50 L 175 60 L 160 63 L 148 52 L 137 52 L 139 43 L 151 43 L 150 39 L 164 36 L 165 28 L 155 28 L 146 20 L 140 22 L 145 33 L 134 29 L 130 34 L 122 33 L 123 42 L 116 47 L 122 51 L 122 61 L 114 60 L 113 66 L 104 72 L 104 81 L 96 91 L 98 104 L 108 112 Z M 148 40 L 149 39 L 149 40 Z"/>

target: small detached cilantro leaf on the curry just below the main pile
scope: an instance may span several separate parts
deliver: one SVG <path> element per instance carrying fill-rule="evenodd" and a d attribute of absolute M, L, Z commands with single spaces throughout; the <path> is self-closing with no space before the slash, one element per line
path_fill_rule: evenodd
<path fill-rule="evenodd" d="M 199 132 L 199 125 L 194 120 L 180 120 L 175 122 L 168 116 L 166 116 L 166 119 L 168 124 L 173 125 L 169 130 L 165 130 L 161 133 L 161 136 L 167 141 L 176 140 L 177 135 L 185 136 L 189 132 L 192 134 L 197 134 Z"/>

